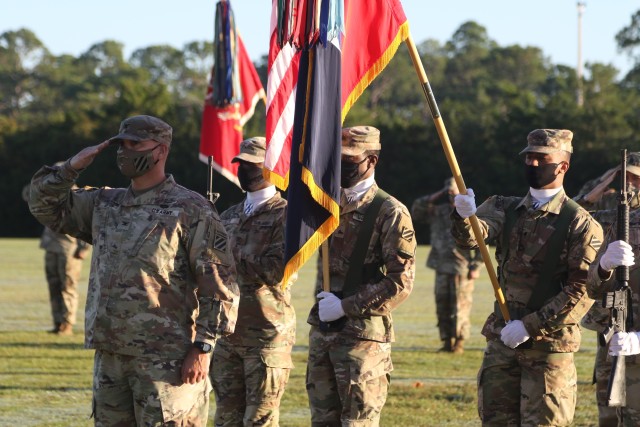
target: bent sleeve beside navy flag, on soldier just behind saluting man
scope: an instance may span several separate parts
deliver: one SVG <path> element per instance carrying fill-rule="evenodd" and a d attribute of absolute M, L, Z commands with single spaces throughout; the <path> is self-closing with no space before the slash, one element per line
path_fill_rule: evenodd
<path fill-rule="evenodd" d="M 260 253 L 243 253 L 240 251 L 238 269 L 244 269 L 247 276 L 257 277 L 269 286 L 279 285 L 284 276 L 284 225 L 285 210 L 274 220 L 274 226 L 268 239 L 269 244 Z"/>

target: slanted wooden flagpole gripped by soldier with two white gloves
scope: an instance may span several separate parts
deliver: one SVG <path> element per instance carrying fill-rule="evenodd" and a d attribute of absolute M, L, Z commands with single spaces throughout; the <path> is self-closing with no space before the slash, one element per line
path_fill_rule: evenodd
<path fill-rule="evenodd" d="M 427 99 L 427 104 L 429 105 L 429 110 L 431 111 L 431 117 L 433 118 L 433 122 L 436 125 L 438 136 L 440 136 L 442 149 L 444 150 L 444 155 L 447 158 L 447 162 L 449 163 L 449 168 L 451 169 L 453 178 L 458 185 L 460 193 L 467 194 L 467 187 L 464 185 L 464 180 L 462 179 L 462 174 L 460 173 L 460 168 L 458 167 L 458 161 L 456 160 L 455 153 L 453 152 L 453 148 L 451 147 L 451 142 L 449 141 L 449 135 L 447 135 L 447 130 L 444 126 L 444 122 L 442 121 L 440 110 L 438 110 L 438 104 L 436 104 L 435 96 L 433 95 L 433 91 L 431 90 L 431 85 L 429 84 L 427 73 L 424 71 L 422 60 L 420 59 L 418 49 L 413 42 L 411 34 L 409 34 L 409 36 L 405 40 L 405 43 L 409 48 L 409 55 L 411 55 L 413 66 L 416 70 L 416 73 L 418 74 L 418 77 L 420 78 L 422 90 L 424 91 L 424 96 Z M 500 311 L 502 312 L 502 317 L 505 321 L 509 321 L 511 319 L 511 317 L 509 316 L 509 310 L 507 309 L 507 304 L 504 299 L 504 295 L 502 294 L 502 289 L 500 288 L 500 284 L 498 283 L 498 277 L 496 276 L 496 272 L 493 269 L 493 264 L 491 263 L 491 255 L 489 254 L 487 245 L 482 238 L 482 230 L 480 229 L 478 217 L 476 217 L 475 215 L 471 215 L 469 217 L 469 221 L 471 222 L 473 234 L 476 238 L 476 242 L 478 243 L 478 248 L 480 249 L 480 253 L 482 254 L 482 259 L 484 260 L 487 272 L 489 273 L 489 278 L 491 279 L 493 291 L 496 296 L 498 306 L 500 307 Z"/>

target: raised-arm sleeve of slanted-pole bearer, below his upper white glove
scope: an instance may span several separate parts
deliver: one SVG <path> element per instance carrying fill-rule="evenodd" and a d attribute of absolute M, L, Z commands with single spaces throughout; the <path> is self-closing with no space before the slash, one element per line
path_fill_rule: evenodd
<path fill-rule="evenodd" d="M 504 224 L 504 199 L 492 196 L 478 206 L 476 217 L 480 224 L 483 240 L 497 238 Z M 476 249 L 478 242 L 471 228 L 469 218 L 462 218 L 455 209 L 451 212 L 451 234 L 461 249 Z"/>

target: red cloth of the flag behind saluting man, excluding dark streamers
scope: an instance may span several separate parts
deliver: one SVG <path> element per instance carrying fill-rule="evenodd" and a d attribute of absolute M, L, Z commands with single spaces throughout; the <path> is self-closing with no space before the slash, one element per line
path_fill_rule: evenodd
<path fill-rule="evenodd" d="M 213 102 L 215 85 L 212 77 L 202 112 L 200 160 L 207 163 L 208 157 L 213 156 L 213 168 L 240 186 L 237 178 L 238 164 L 231 163 L 231 159 L 240 153 L 244 124 L 253 116 L 258 101 L 262 99 L 266 102 L 266 97 L 258 73 L 239 35 L 236 40 L 235 60 L 242 93 L 238 100 L 232 100 L 226 105 L 216 105 Z"/>

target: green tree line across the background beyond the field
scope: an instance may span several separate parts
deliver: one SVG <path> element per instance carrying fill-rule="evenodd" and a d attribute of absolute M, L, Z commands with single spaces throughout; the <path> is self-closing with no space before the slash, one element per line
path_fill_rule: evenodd
<path fill-rule="evenodd" d="M 575 69 L 550 62 L 534 46 L 500 46 L 482 25 L 463 23 L 449 40 L 426 40 L 418 49 L 460 164 L 465 184 L 481 201 L 492 194 L 527 190 L 518 155 L 536 128 L 574 132 L 574 155 L 565 179 L 569 195 L 612 167 L 619 150 L 640 151 L 640 11 L 616 42 L 635 55 L 626 75 L 610 64 L 588 63 L 582 81 Z M 135 114 L 163 118 L 174 127 L 167 170 L 182 185 L 206 192 L 206 165 L 198 160 L 204 94 L 213 62 L 211 42 L 182 49 L 150 46 L 124 58 L 123 45 L 107 40 L 86 52 L 52 55 L 28 29 L 0 34 L 0 236 L 37 236 L 21 191 L 43 164 L 65 160 L 85 146 L 117 133 Z M 267 58 L 256 68 L 266 87 Z M 578 105 L 578 91 L 583 105 Z M 389 66 L 351 109 L 345 126 L 381 130 L 382 153 L 376 179 L 410 207 L 442 188 L 450 176 L 408 51 L 401 46 Z M 260 104 L 245 136 L 263 135 Z M 107 150 L 83 172 L 78 184 L 126 186 Z M 242 199 L 220 175 L 214 191 L 219 211 Z M 286 195 L 286 194 L 285 194 Z M 417 224 L 417 235 L 427 233 Z"/>

